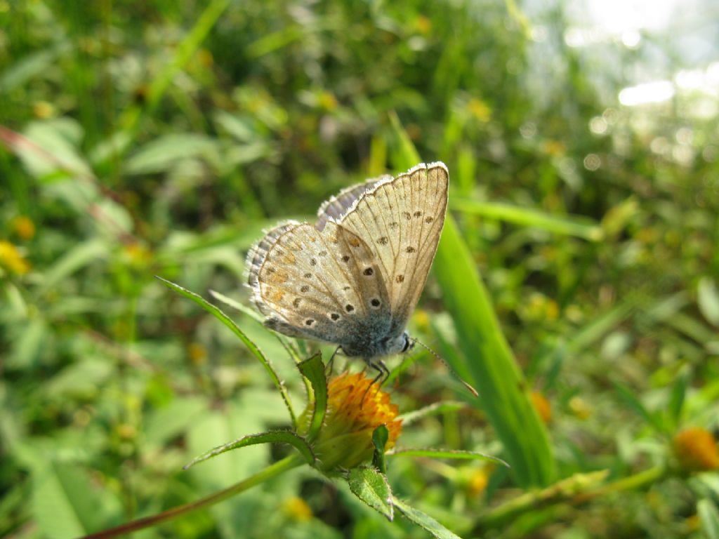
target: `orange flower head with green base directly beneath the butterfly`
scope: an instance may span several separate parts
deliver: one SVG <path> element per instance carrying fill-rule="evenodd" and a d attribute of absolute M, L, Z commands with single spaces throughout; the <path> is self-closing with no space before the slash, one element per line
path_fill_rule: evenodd
<path fill-rule="evenodd" d="M 350 469 L 372 459 L 375 446 L 372 433 L 385 425 L 389 439 L 385 451 L 394 447 L 402 430 L 399 408 L 390 402 L 390 395 L 364 373 L 343 373 L 327 385 L 327 414 L 317 440 L 312 444 L 325 472 Z M 303 418 L 308 423 L 312 408 Z"/>

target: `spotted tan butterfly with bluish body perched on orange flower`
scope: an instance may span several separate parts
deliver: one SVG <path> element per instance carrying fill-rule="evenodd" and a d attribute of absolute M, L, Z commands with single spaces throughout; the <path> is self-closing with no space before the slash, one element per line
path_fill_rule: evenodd
<path fill-rule="evenodd" d="M 449 172 L 421 163 L 342 190 L 316 224 L 286 221 L 247 254 L 252 301 L 265 326 L 339 345 L 387 371 L 383 356 L 405 352 L 407 322 L 439 243 Z"/>

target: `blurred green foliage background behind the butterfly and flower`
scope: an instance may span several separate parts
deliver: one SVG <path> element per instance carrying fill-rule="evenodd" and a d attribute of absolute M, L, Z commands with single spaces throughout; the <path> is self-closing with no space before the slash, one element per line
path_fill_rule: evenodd
<path fill-rule="evenodd" d="M 663 37 L 691 28 L 592 48 L 576 26 L 562 4 L 510 0 L 0 0 L 0 535 L 101 530 L 282 456 L 181 471 L 288 418 L 255 357 L 154 275 L 246 300 L 264 227 L 406 168 L 396 114 L 449 166 L 562 482 L 522 493 L 485 463 L 392 459 L 395 494 L 459 535 L 716 537 L 719 476 L 682 471 L 672 439 L 719 428 L 718 47 L 684 65 Z M 674 92 L 622 105 L 647 65 Z M 413 333 L 461 365 L 444 292 L 431 278 Z M 300 397 L 283 346 L 236 321 Z M 416 359 L 400 410 L 465 395 Z M 478 406 L 420 418 L 400 445 L 510 460 Z M 423 534 L 298 469 L 142 537 Z"/>

